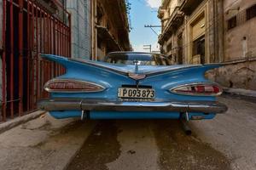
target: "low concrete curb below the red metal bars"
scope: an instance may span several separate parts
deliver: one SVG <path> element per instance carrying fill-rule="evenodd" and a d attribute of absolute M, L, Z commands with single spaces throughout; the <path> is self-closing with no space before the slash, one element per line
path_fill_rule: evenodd
<path fill-rule="evenodd" d="M 0 124 L 0 134 L 4 133 L 5 131 L 7 131 L 13 127 L 19 126 L 22 123 L 29 122 L 33 119 L 36 119 L 36 118 L 38 118 L 38 116 L 41 116 L 44 113 L 46 113 L 46 111 L 35 111 L 35 112 L 32 112 L 25 116 L 16 117 L 15 119 L 10 120 L 8 122 L 3 122 Z"/>

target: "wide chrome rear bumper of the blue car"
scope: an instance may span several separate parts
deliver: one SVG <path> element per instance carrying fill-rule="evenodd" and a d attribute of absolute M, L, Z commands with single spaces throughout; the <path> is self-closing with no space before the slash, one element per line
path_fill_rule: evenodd
<path fill-rule="evenodd" d="M 227 106 L 217 101 L 111 101 L 106 99 L 46 99 L 38 103 L 44 111 L 176 111 L 224 113 Z"/>

